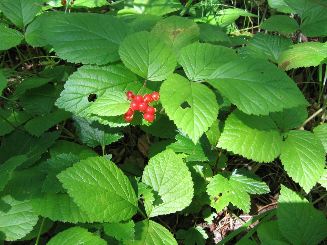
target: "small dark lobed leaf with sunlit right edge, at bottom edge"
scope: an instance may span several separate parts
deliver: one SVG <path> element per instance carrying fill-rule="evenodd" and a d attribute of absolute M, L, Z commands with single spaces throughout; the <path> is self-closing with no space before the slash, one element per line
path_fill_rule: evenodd
<path fill-rule="evenodd" d="M 188 231 L 178 230 L 176 239 L 184 239 L 185 245 L 204 245 L 204 239 L 208 238 L 207 233 L 201 226 L 191 227 Z"/>

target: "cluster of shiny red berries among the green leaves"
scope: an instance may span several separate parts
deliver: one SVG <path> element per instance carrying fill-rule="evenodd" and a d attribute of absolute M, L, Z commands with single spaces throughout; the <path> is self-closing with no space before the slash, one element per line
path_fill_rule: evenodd
<path fill-rule="evenodd" d="M 126 121 L 131 121 L 134 117 L 134 111 L 142 111 L 143 118 L 148 121 L 152 122 L 156 115 L 154 114 L 157 109 L 153 106 L 148 106 L 149 103 L 152 101 L 157 102 L 160 98 L 160 95 L 158 92 L 153 92 L 151 94 L 145 94 L 144 96 L 138 94 L 134 96 L 134 93 L 132 91 L 128 91 L 126 93 L 127 99 L 131 100 L 130 107 L 128 111 L 124 114 L 124 118 Z"/>

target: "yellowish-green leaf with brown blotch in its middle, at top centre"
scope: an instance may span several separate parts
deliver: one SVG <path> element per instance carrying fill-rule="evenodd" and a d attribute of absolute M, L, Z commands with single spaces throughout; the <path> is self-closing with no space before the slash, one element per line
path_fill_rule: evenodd
<path fill-rule="evenodd" d="M 172 15 L 159 21 L 151 33 L 165 41 L 179 61 L 181 49 L 198 41 L 200 28 L 192 20 Z"/>

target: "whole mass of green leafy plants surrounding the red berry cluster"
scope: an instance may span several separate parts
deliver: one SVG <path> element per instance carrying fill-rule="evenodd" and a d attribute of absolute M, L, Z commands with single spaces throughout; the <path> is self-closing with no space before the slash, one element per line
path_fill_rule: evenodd
<path fill-rule="evenodd" d="M 322 69 L 327 43 L 293 44 L 258 32 L 235 49 L 237 40 L 246 43 L 226 34 L 235 20 L 259 16 L 192 2 L 0 2 L 2 60 L 22 43 L 31 57 L 21 63 L 33 69 L 0 70 L 0 243 L 204 244 L 201 226 L 173 234 L 162 219 L 180 212 L 197 220 L 202 209 L 209 221 L 222 210 L 249 213 L 250 194 L 271 191 L 254 171 L 232 168 L 231 154 L 267 164 L 279 158 L 302 190 L 279 183 L 278 208 L 251 220 L 262 219 L 238 244 L 256 244 L 246 240 L 255 231 L 262 244 L 326 237 L 325 216 L 303 195 L 317 182 L 327 186 L 327 124 L 300 129 L 310 104 L 284 70 Z M 326 41 L 326 1 L 279 2 L 300 16 L 300 25 L 287 16 L 292 31 Z M 264 29 L 290 33 L 278 19 L 285 17 L 270 18 Z M 41 57 L 53 61 L 46 69 L 35 63 L 32 46 L 49 52 Z M 57 66 L 57 58 L 66 64 Z M 145 167 L 118 167 L 107 154 L 130 125 L 157 137 Z M 276 213 L 278 220 L 268 221 Z M 54 222 L 55 235 L 40 239 Z"/>

